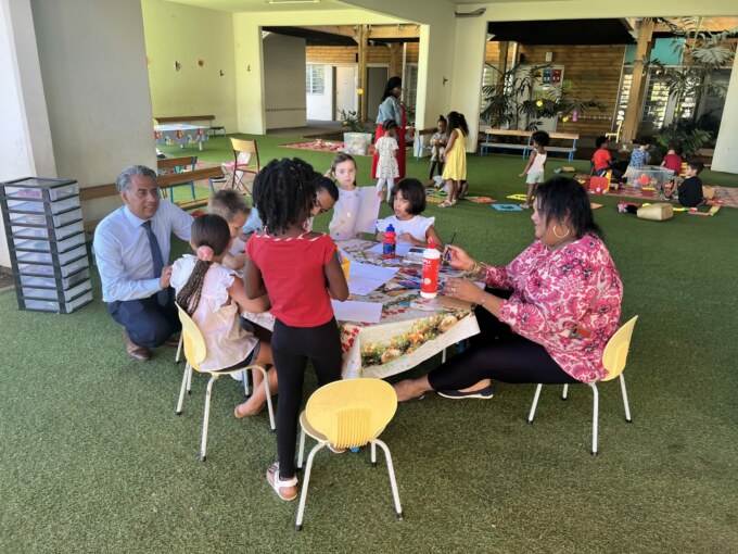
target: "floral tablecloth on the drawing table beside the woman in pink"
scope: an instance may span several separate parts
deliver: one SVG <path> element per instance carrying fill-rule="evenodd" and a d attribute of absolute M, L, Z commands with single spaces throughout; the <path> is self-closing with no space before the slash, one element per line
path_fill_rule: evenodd
<path fill-rule="evenodd" d="M 433 302 L 420 301 L 420 290 L 411 287 L 420 278 L 420 265 L 404 264 L 402 259 L 385 261 L 367 249 L 373 243 L 349 240 L 339 244 L 357 262 L 399 267 L 394 279 L 364 297 L 349 300 L 380 302 L 383 306 L 379 324 L 339 322 L 343 348 L 343 377 L 387 377 L 417 366 L 445 348 L 480 329 L 471 310 L 445 309 Z M 442 268 L 443 285 L 459 275 Z M 427 302 L 427 301 L 424 301 Z M 270 314 L 249 314 L 254 323 L 273 326 Z"/>

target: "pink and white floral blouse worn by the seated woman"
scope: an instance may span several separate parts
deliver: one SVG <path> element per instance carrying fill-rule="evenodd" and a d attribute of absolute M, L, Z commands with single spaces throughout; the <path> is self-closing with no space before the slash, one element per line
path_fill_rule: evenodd
<path fill-rule="evenodd" d="M 512 289 L 499 319 L 543 345 L 582 382 L 607 374 L 602 352 L 620 327 L 623 285 L 605 243 L 593 235 L 561 247 L 536 240 L 507 266 L 486 266 L 485 282 Z M 590 332 L 571 338 L 574 328 Z"/>

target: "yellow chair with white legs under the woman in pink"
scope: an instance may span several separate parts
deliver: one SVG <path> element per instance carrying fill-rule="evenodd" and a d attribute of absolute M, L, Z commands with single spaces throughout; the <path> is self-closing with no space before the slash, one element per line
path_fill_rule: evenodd
<path fill-rule="evenodd" d="M 620 377 L 620 389 L 623 393 L 623 405 L 625 407 L 625 420 L 629 424 L 633 421 L 631 419 L 631 406 L 627 402 L 627 391 L 625 390 L 625 377 L 623 376 L 623 369 L 625 369 L 625 363 L 627 362 L 627 353 L 631 347 L 631 337 L 633 337 L 633 328 L 636 325 L 638 316 L 623 325 L 618 331 L 610 337 L 608 344 L 605 347 L 605 352 L 602 353 L 602 365 L 608 370 L 608 374 L 600 379 L 601 381 L 611 381 L 615 377 Z M 584 385 L 584 383 L 583 383 Z M 597 390 L 596 382 L 588 382 L 589 388 L 594 394 L 594 408 L 591 416 L 591 455 L 597 455 L 597 427 L 598 427 L 598 415 L 599 415 L 599 392 Z M 533 398 L 533 405 L 531 406 L 531 413 L 527 416 L 527 423 L 533 423 L 533 417 L 535 416 L 535 408 L 538 404 L 538 396 L 540 395 L 540 389 L 543 383 L 538 383 L 535 390 L 535 396 Z M 567 400 L 567 394 L 569 392 L 569 385 L 563 386 L 563 394 L 561 400 Z"/>

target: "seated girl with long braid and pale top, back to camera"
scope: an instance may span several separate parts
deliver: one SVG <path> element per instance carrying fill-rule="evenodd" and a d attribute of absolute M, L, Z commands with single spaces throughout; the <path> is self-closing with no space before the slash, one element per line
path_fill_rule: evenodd
<path fill-rule="evenodd" d="M 207 355 L 200 366 L 208 372 L 233 369 L 251 364 L 273 364 L 271 347 L 241 328 L 239 313 L 265 312 L 266 297 L 250 300 L 243 281 L 236 272 L 222 265 L 233 239 L 226 219 L 219 215 L 202 215 L 192 224 L 190 244 L 195 255 L 184 255 L 171 267 L 171 286 L 177 304 L 187 312 L 205 340 Z M 260 412 L 266 393 L 260 373 L 254 372 L 254 394 L 237 406 L 236 417 Z M 268 372 L 269 387 L 276 389 L 277 373 Z"/>

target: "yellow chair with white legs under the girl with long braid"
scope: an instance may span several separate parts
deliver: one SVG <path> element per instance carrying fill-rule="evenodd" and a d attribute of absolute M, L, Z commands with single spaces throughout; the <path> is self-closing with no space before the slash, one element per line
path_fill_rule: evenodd
<path fill-rule="evenodd" d="M 187 365 L 184 366 L 184 375 L 182 375 L 182 386 L 179 389 L 179 401 L 177 402 L 177 415 L 182 414 L 182 404 L 184 403 L 184 392 L 189 394 L 190 383 L 192 382 L 192 369 L 202 374 L 208 374 L 211 376 L 209 381 L 207 381 L 207 389 L 205 391 L 205 415 L 203 417 L 203 436 L 200 442 L 200 461 L 205 462 L 205 455 L 207 451 L 207 424 L 211 417 L 211 398 L 213 396 L 213 383 L 224 375 L 231 374 L 243 374 L 244 390 L 246 382 L 246 372 L 257 370 L 260 372 L 264 379 L 264 388 L 266 389 L 267 395 L 267 407 L 269 410 L 269 425 L 271 430 L 277 427 L 275 425 L 275 412 L 271 407 L 271 394 L 269 393 L 269 379 L 267 378 L 267 372 L 260 365 L 249 365 L 245 367 L 239 367 L 237 369 L 230 369 L 228 372 L 208 372 L 207 369 L 202 369 L 200 363 L 205 360 L 207 355 L 207 348 L 205 347 L 205 340 L 203 339 L 200 329 L 192 320 L 192 318 L 187 315 L 187 312 L 177 305 L 177 312 L 179 312 L 179 320 L 182 323 L 182 340 L 184 345 L 184 358 L 187 360 Z"/>

